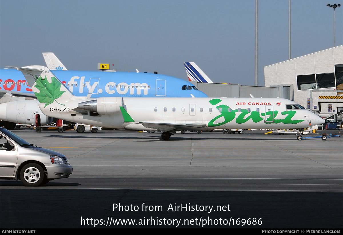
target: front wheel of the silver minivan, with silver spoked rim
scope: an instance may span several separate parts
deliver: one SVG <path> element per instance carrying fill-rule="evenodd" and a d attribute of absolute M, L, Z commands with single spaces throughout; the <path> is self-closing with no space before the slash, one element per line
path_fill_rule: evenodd
<path fill-rule="evenodd" d="M 25 165 L 20 171 L 20 180 L 26 186 L 39 186 L 44 180 L 45 174 L 42 166 L 36 163 Z"/>

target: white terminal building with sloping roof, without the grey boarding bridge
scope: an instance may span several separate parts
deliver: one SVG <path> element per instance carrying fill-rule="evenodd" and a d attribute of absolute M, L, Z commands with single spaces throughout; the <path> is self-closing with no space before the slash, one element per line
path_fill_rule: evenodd
<path fill-rule="evenodd" d="M 290 87 L 291 99 L 311 111 L 341 113 L 343 45 L 265 66 L 264 82 L 266 87 Z"/>

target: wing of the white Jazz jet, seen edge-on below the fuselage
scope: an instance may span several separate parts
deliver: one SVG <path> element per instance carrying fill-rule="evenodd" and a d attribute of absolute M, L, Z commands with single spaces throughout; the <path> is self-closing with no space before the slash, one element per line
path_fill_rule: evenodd
<path fill-rule="evenodd" d="M 174 129 L 185 131 L 203 131 L 206 123 L 157 123 L 157 122 L 126 122 L 141 124 L 144 127 L 155 128 L 160 131 L 166 132 Z"/>

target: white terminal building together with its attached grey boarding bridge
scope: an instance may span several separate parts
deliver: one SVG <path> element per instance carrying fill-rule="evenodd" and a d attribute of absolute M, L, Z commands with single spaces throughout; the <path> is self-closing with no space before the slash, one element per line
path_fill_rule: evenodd
<path fill-rule="evenodd" d="M 209 97 L 280 97 L 342 121 L 343 45 L 264 67 L 265 87 L 192 82 Z"/>

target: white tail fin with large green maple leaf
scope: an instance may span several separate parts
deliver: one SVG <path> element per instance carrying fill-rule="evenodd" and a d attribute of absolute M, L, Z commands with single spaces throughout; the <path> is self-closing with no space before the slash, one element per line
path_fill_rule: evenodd
<path fill-rule="evenodd" d="M 23 73 L 39 103 L 45 103 L 44 107 L 54 102 L 64 106 L 68 100 L 78 98 L 47 67 L 41 67 L 15 68 Z"/>

